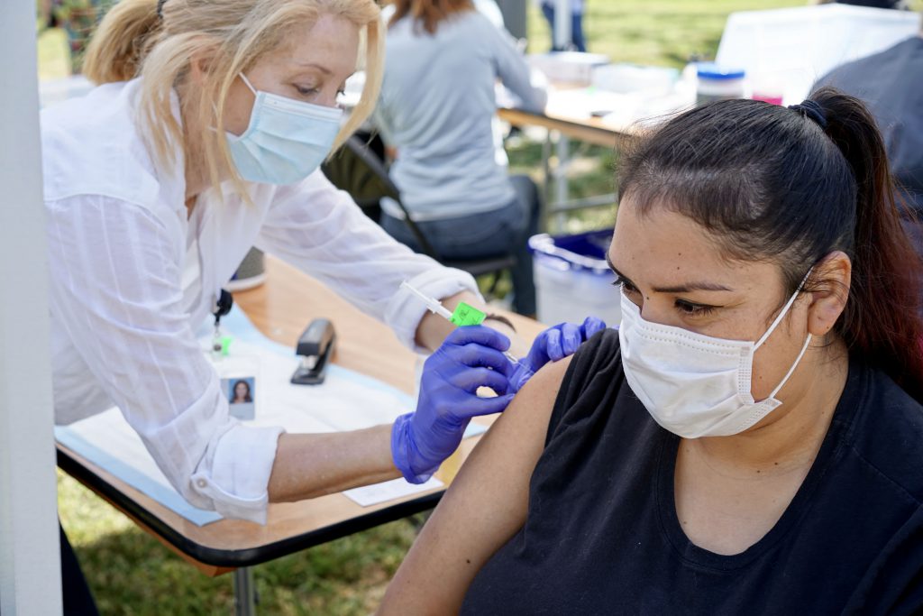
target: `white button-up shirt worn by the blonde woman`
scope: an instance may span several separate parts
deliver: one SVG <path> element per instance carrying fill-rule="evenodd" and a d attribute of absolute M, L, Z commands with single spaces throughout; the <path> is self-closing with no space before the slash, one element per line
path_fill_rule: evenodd
<path fill-rule="evenodd" d="M 210 189 L 188 217 L 182 156 L 152 162 L 138 91 L 108 84 L 42 112 L 55 416 L 118 406 L 186 500 L 263 523 L 282 429 L 229 417 L 194 335 L 247 250 L 317 277 L 409 346 L 426 308 L 397 293 L 402 280 L 436 297 L 476 286 L 395 242 L 319 171 L 251 185 L 252 205 Z"/>

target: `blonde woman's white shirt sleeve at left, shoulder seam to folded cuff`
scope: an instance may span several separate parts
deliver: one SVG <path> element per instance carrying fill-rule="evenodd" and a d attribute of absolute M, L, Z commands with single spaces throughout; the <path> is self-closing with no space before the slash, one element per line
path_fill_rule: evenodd
<path fill-rule="evenodd" d="M 46 209 L 53 319 L 92 377 L 187 501 L 265 524 L 282 429 L 229 416 L 183 308 L 177 230 L 101 196 Z"/>

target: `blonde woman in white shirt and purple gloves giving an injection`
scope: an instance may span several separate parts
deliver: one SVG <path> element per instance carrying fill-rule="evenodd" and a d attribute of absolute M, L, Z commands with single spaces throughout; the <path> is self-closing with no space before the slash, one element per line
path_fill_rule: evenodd
<path fill-rule="evenodd" d="M 423 481 L 470 417 L 502 410 L 587 333 L 549 330 L 517 373 L 503 334 L 450 332 L 397 294 L 407 279 L 449 306 L 479 302 L 470 276 L 392 240 L 317 171 L 378 96 L 379 28 L 373 0 L 123 0 L 88 50 L 99 87 L 42 115 L 57 420 L 117 405 L 198 507 L 263 523 L 270 501 Z M 362 36 L 366 91 L 341 127 Z M 230 419 L 193 332 L 251 246 L 438 348 L 417 412 L 323 435 Z"/>

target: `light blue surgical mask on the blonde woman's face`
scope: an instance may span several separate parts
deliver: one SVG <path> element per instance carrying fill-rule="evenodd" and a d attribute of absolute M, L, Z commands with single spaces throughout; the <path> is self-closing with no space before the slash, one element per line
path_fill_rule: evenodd
<path fill-rule="evenodd" d="M 294 184 L 311 175 L 333 147 L 342 109 L 257 91 L 243 73 L 240 79 L 256 101 L 246 131 L 227 133 L 237 173 L 265 184 Z"/>

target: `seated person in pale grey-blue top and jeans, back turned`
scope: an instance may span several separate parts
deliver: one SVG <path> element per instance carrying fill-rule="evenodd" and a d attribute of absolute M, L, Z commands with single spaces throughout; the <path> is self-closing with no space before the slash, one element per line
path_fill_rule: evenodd
<path fill-rule="evenodd" d="M 373 119 L 397 151 L 390 175 L 401 199 L 440 259 L 516 257 L 513 306 L 535 313 L 532 256 L 538 190 L 526 175 L 507 175 L 495 140 L 495 84 L 522 106 L 541 110 L 545 91 L 509 34 L 471 0 L 394 0 L 381 94 Z M 385 199 L 381 225 L 412 248 L 414 236 L 397 204 Z"/>

